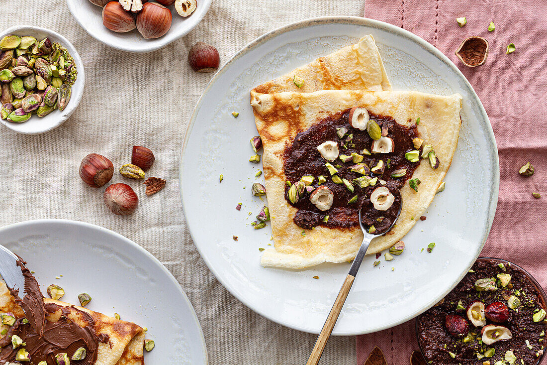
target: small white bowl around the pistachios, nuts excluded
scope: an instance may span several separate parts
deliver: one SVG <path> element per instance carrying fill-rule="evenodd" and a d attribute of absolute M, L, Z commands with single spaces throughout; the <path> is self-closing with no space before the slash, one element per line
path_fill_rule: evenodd
<path fill-rule="evenodd" d="M 4 119 L 0 119 L 0 122 L 2 122 L 4 126 L 22 134 L 40 134 L 48 132 L 48 130 L 55 129 L 65 122 L 80 104 L 80 100 L 82 100 L 82 95 L 84 94 L 84 64 L 72 43 L 68 42 L 68 40 L 59 33 L 46 28 L 20 25 L 11 27 L 0 33 L 0 39 L 11 34 L 18 36 L 33 36 L 38 41 L 41 41 L 45 37 L 49 37 L 51 43 L 59 42 L 68 50 L 74 59 L 76 67 L 78 67 L 78 77 L 76 78 L 74 85 L 72 85 L 72 95 L 65 110 L 59 111 L 59 109 L 56 109 L 42 118 L 33 115 L 28 121 L 23 123 L 11 123 Z"/>

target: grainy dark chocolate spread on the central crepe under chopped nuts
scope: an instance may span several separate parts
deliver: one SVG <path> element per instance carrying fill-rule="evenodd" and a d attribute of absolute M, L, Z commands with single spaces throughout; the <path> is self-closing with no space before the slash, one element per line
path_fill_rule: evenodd
<path fill-rule="evenodd" d="M 390 227 L 397 216 L 401 204 L 400 195 L 397 193 L 397 190 L 412 176 L 419 164 L 412 163 L 405 158 L 406 152 L 414 150 L 412 139 L 418 136 L 417 127 L 415 124 L 406 127 L 395 122 L 392 117 L 369 113 L 370 119 L 374 119 L 379 124 L 384 131 L 383 134 L 387 134 L 389 138 L 393 139 L 394 151 L 366 155 L 363 153 L 363 150 L 371 150 L 373 139 L 370 138 L 366 130 L 351 127 L 348 122 L 349 114 L 350 110 L 336 113 L 323 119 L 321 123 L 317 123 L 309 129 L 298 133 L 292 145 L 285 152 L 284 173 L 291 184 L 299 181 L 302 176 L 312 175 L 316 178 L 313 181 L 313 187 L 325 185 L 334 193 L 333 204 L 326 211 L 319 210 L 310 202 L 308 196 L 302 197 L 296 203 L 291 203 L 287 199 L 289 204 L 298 209 L 293 221 L 299 227 L 304 229 L 312 229 L 312 227 L 319 225 L 330 228 L 355 227 L 359 225 L 359 208 L 363 207 L 363 224 L 365 226 L 374 225 L 376 231 L 381 232 Z M 346 128 L 348 132 L 340 138 L 337 135 L 337 128 Z M 325 141 L 337 141 L 341 155 L 351 155 L 353 152 L 363 156 L 363 160 L 360 163 L 366 164 L 369 169 L 375 167 L 382 160 L 385 164 L 383 172 L 380 174 L 369 172 L 368 175 L 370 178 L 377 177 L 385 181 L 385 184 L 379 182 L 375 186 L 363 188 L 354 184 L 353 192 L 348 190 L 344 184 L 336 184 L 331 178 L 327 167 L 325 167 L 325 162 L 327 161 L 325 161 L 321 153 L 317 150 L 317 146 Z M 336 167 L 338 170 L 336 175 L 340 179 L 352 182 L 354 179 L 363 176 L 360 173 L 351 171 L 351 166 L 356 164 L 352 160 L 343 162 L 340 158 L 337 158 L 331 164 L 339 166 Z M 405 174 L 399 178 L 393 178 L 393 172 L 401 169 L 406 170 Z M 318 184 L 317 176 L 319 175 L 326 176 L 325 183 Z M 379 186 L 386 186 L 395 196 L 393 205 L 385 211 L 376 210 L 370 201 L 371 192 Z M 288 190 L 289 186 L 286 186 L 286 198 Z M 356 201 L 350 203 L 351 199 L 356 195 Z M 328 219 L 325 221 L 325 216 L 327 215 Z"/>

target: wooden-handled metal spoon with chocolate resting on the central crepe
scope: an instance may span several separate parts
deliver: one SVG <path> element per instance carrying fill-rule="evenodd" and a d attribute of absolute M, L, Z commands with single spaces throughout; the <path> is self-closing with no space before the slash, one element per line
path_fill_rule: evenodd
<path fill-rule="evenodd" d="M 323 325 L 323 328 L 321 329 L 321 333 L 319 333 L 319 336 L 317 337 L 316 343 L 313 346 L 313 349 L 310 354 L 310 358 L 307 361 L 306 365 L 317 365 L 319 363 L 319 359 L 321 359 L 321 355 L 323 354 L 323 350 L 325 349 L 325 345 L 327 344 L 327 341 L 330 337 L 330 334 L 333 332 L 334 325 L 336 324 L 336 320 L 338 319 L 338 316 L 340 315 L 340 312 L 342 311 L 342 307 L 344 307 L 344 303 L 346 301 L 346 298 L 348 294 L 350 294 L 351 287 L 353 286 L 353 281 L 355 280 L 355 277 L 357 276 L 357 272 L 359 271 L 359 267 L 361 266 L 361 263 L 363 262 L 363 258 L 366 255 L 366 250 L 368 250 L 370 242 L 376 237 L 380 237 L 385 235 L 387 232 L 389 232 L 395 223 L 397 222 L 397 219 L 399 218 L 399 215 L 401 214 L 401 208 L 403 207 L 403 199 L 401 198 L 401 193 L 397 189 L 396 191 L 389 191 L 387 187 L 385 187 L 386 195 L 385 198 L 392 198 L 393 202 L 391 205 L 393 212 L 395 212 L 395 209 L 397 209 L 397 213 L 392 214 L 392 216 L 389 216 L 387 214 L 386 217 L 384 217 L 381 221 L 382 228 L 375 229 L 374 226 L 371 226 L 369 220 L 372 216 L 375 215 L 374 213 L 374 204 L 370 202 L 370 199 L 363 200 L 362 205 L 359 209 L 359 226 L 361 227 L 361 230 L 363 231 L 363 243 L 361 243 L 361 246 L 359 247 L 359 252 L 357 253 L 357 256 L 355 256 L 355 259 L 353 259 L 353 263 L 351 264 L 350 271 L 348 272 L 346 276 L 346 280 L 344 281 L 344 284 L 342 284 L 342 288 L 340 288 L 340 292 L 338 293 L 338 296 L 336 297 L 336 300 L 334 301 L 334 305 L 332 309 L 330 310 L 329 316 L 327 317 L 327 321 L 325 321 L 325 324 Z M 382 198 L 381 198 L 382 199 Z M 389 211 L 388 210 L 388 211 Z M 387 212 L 388 212 L 387 211 Z"/>

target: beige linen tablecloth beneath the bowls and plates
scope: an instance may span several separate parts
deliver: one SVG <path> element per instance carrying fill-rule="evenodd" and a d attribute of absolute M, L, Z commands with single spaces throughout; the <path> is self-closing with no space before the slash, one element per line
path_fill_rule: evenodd
<path fill-rule="evenodd" d="M 61 127 L 26 136 L 1 126 L 0 224 L 62 218 L 121 233 L 156 256 L 181 283 L 201 321 L 211 364 L 305 363 L 315 336 L 266 320 L 235 299 L 207 269 L 185 224 L 179 156 L 191 112 L 213 76 L 190 69 L 188 49 L 197 41 L 211 43 L 224 64 L 265 32 L 315 16 L 362 15 L 364 1 L 213 1 L 188 36 L 144 55 L 120 52 L 90 37 L 65 0 L 1 0 L 0 9 L 2 30 L 33 24 L 68 38 L 82 56 L 86 76 L 82 102 Z M 119 167 L 130 162 L 133 145 L 154 151 L 148 175 L 166 179 L 167 185 L 146 197 L 141 182 L 129 182 L 139 207 L 120 218 L 104 206 L 104 187 L 84 185 L 78 167 L 91 152 Z M 116 172 L 116 182 L 127 179 Z M 161 334 L 150 335 L 160 340 Z M 353 337 L 333 338 L 322 363 L 354 364 L 355 359 Z"/>

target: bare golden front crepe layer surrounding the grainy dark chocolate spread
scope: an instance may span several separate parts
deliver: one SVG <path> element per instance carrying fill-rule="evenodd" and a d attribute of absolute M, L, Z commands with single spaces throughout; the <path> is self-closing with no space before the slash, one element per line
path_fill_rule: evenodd
<path fill-rule="evenodd" d="M 433 201 L 446 175 L 458 142 L 462 97 L 459 94 L 440 96 L 414 91 L 363 92 L 324 90 L 315 93 L 251 93 L 257 129 L 262 138 L 263 167 L 267 202 L 270 208 L 275 246 L 264 250 L 263 266 L 304 269 L 324 262 L 341 263 L 352 260 L 363 239 L 360 228 L 330 229 L 317 226 L 306 230 L 293 222 L 296 208 L 286 201 L 284 151 L 297 133 L 321 123 L 322 119 L 353 106 L 365 107 L 375 115 L 390 116 L 403 126 L 415 123 L 424 144 L 431 144 L 440 160 L 432 169 L 427 159 L 421 162 L 412 177 L 421 181 L 418 192 L 408 183 L 400 189 L 403 208 L 397 224 L 383 237 L 374 238 L 368 254 L 385 250 L 403 238 L 416 219 Z"/>

